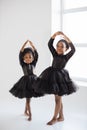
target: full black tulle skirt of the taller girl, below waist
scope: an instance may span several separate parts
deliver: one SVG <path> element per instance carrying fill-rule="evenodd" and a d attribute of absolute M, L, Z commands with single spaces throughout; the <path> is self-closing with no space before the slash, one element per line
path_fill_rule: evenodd
<path fill-rule="evenodd" d="M 53 67 L 48 67 L 41 73 L 34 82 L 33 88 L 35 92 L 59 96 L 72 94 L 78 89 L 67 70 L 58 70 Z"/>

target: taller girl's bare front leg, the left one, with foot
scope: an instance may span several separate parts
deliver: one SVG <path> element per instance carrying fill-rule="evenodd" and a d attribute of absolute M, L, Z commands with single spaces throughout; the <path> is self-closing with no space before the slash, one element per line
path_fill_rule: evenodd
<path fill-rule="evenodd" d="M 57 116 L 61 110 L 62 98 L 61 96 L 55 95 L 55 110 L 53 118 L 47 123 L 47 125 L 53 125 L 58 122 Z"/>

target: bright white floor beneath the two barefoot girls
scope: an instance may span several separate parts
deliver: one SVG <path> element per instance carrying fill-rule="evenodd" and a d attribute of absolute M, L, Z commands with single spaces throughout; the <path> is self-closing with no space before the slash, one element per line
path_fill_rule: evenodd
<path fill-rule="evenodd" d="M 0 100 L 0 130 L 87 130 L 87 88 L 63 97 L 64 122 L 48 126 L 54 112 L 54 96 L 32 98 L 32 121 L 23 115 L 25 99 L 9 94 L 7 100 Z"/>

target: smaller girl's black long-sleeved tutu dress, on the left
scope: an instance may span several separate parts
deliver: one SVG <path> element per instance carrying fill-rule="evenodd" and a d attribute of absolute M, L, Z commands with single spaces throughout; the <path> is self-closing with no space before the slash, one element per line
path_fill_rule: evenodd
<path fill-rule="evenodd" d="M 30 64 L 26 64 L 23 61 L 23 56 L 26 52 L 32 53 L 34 61 Z M 38 53 L 35 50 L 32 52 L 30 48 L 26 48 L 24 52 L 20 52 L 19 61 L 22 66 L 24 76 L 22 76 L 14 86 L 9 90 L 11 94 L 18 98 L 31 98 L 42 96 L 40 93 L 34 92 L 32 84 L 37 80 L 37 76 L 33 73 L 33 68 L 38 60 Z"/>

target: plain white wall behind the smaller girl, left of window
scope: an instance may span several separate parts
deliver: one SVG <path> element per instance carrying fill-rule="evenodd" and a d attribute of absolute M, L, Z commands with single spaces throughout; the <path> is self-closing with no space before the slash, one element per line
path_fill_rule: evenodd
<path fill-rule="evenodd" d="M 0 99 L 23 75 L 19 50 L 30 39 L 39 53 L 35 73 L 50 64 L 51 0 L 0 0 Z"/>

